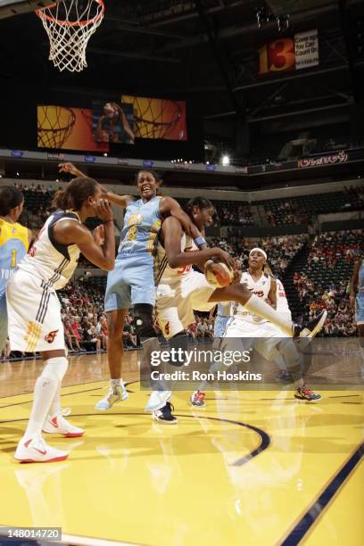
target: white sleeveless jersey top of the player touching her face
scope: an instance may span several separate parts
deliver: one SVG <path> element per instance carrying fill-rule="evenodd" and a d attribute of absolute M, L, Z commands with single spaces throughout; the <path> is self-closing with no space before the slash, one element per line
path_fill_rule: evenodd
<path fill-rule="evenodd" d="M 75 212 L 55 211 L 39 231 L 29 253 L 19 264 L 21 271 L 40 278 L 45 285 L 60 290 L 67 285 L 79 261 L 77 244 L 60 244 L 54 239 L 54 226 L 65 219 L 80 222 Z"/>

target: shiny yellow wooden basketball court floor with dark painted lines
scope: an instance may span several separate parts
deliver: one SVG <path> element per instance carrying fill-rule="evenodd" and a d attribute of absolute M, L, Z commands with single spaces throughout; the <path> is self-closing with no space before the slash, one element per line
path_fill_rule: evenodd
<path fill-rule="evenodd" d="M 173 398 L 178 424 L 144 413 L 138 352 L 125 358 L 128 401 L 100 414 L 105 355 L 70 358 L 62 407 L 82 438 L 48 442 L 66 461 L 21 465 L 13 453 L 41 361 L 0 364 L 0 524 L 61 526 L 72 544 L 363 543 L 363 396 L 211 392 Z M 1 539 L 0 539 L 1 541 Z"/>

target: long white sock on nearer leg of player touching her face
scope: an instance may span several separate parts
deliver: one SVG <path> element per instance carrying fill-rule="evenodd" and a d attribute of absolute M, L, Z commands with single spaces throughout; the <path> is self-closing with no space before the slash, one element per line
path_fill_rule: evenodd
<path fill-rule="evenodd" d="M 51 409 L 58 387 L 61 388 L 67 368 L 68 360 L 64 357 L 45 360 L 45 368 L 37 378 L 34 388 L 33 406 L 24 437 L 29 438 L 42 432 L 45 418 Z"/>

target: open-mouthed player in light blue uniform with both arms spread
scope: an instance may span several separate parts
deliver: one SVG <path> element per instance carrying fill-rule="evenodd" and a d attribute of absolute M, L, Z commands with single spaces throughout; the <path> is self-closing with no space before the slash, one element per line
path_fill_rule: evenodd
<path fill-rule="evenodd" d="M 64 172 L 81 176 L 71 163 L 60 165 Z M 105 411 L 117 401 L 126 400 L 128 393 L 121 379 L 121 362 L 124 349 L 121 343 L 125 317 L 134 305 L 136 335 L 143 344 L 143 360 L 150 361 L 150 354 L 160 350 L 160 343 L 153 327 L 155 305 L 154 261 L 161 223 L 167 217 L 175 218 L 179 226 L 197 245 L 206 244 L 200 231 L 186 212 L 171 197 L 157 196 L 161 179 L 153 170 L 140 170 L 136 174 L 140 199 L 132 195 L 117 195 L 103 188 L 103 195 L 112 203 L 126 208 L 115 269 L 108 274 L 104 310 L 108 320 L 109 343 L 107 356 L 111 384 L 107 395 L 96 403 L 95 409 Z M 218 248 L 210 249 L 209 256 L 220 261 L 233 261 Z"/>

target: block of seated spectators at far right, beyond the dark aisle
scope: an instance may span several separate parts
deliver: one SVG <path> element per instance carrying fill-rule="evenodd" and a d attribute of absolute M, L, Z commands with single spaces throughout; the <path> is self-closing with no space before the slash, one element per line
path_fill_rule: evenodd
<path fill-rule="evenodd" d="M 364 252 L 364 231 L 327 232 L 316 237 L 307 265 L 294 273 L 305 317 L 315 317 L 326 309 L 327 321 L 322 335 L 355 335 L 354 310 L 350 307 L 350 280 L 353 262 Z"/>

